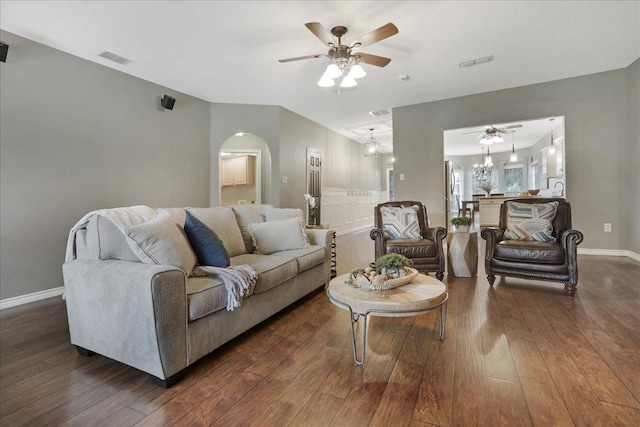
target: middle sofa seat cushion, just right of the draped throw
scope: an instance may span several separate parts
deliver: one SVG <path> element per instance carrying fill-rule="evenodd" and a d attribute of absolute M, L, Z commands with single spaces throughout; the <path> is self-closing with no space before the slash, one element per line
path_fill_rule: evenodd
<path fill-rule="evenodd" d="M 258 272 L 254 294 L 268 291 L 295 277 L 298 263 L 293 258 L 273 255 L 243 254 L 231 258 L 231 265 L 249 264 Z"/>

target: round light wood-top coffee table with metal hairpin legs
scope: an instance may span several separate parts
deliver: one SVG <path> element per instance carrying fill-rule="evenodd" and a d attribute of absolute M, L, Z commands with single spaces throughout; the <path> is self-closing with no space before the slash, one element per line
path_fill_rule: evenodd
<path fill-rule="evenodd" d="M 444 327 L 447 321 L 447 287 L 438 279 L 418 274 L 408 285 L 386 291 L 373 291 L 345 283 L 348 274 L 342 274 L 329 282 L 327 296 L 336 306 L 349 311 L 351 319 L 351 339 L 353 359 L 363 365 L 367 348 L 367 323 L 369 316 L 405 317 L 417 316 L 440 307 L 440 339 L 444 339 Z M 360 317 L 364 318 L 362 332 L 362 355 L 358 360 L 356 348 L 356 329 Z"/>

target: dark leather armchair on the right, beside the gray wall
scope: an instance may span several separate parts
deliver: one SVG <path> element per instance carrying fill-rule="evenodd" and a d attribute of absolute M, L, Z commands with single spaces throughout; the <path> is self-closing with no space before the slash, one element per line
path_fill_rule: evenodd
<path fill-rule="evenodd" d="M 555 242 L 504 240 L 507 229 L 507 202 L 500 206 L 498 228 L 483 228 L 480 235 L 487 241 L 485 271 L 493 286 L 496 275 L 522 279 L 564 283 L 565 293 L 573 296 L 578 284 L 577 246 L 583 235 L 571 229 L 571 204 L 558 198 L 522 198 L 519 203 L 558 202 L 552 221 Z"/>

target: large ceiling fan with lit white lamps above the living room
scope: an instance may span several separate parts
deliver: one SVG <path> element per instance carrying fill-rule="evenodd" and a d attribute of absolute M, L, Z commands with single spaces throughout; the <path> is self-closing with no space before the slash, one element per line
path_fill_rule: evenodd
<path fill-rule="evenodd" d="M 298 56 L 295 58 L 280 59 L 279 62 L 300 61 L 302 59 L 312 58 L 329 58 L 331 64 L 327 67 L 325 74 L 318 82 L 319 86 L 330 87 L 335 84 L 334 79 L 342 78 L 341 87 L 352 87 L 357 83 L 355 79 L 364 77 L 365 71 L 360 63 L 375 65 L 376 67 L 384 67 L 390 58 L 383 56 L 371 55 L 369 53 L 357 52 L 358 49 L 370 46 L 388 37 L 398 33 L 398 28 L 389 22 L 361 37 L 356 39 L 351 45 L 342 44 L 342 37 L 347 34 L 347 27 L 337 26 L 331 29 L 331 33 L 327 31 L 319 22 L 308 22 L 305 26 L 320 41 L 329 47 L 326 54 L 318 53 L 315 55 Z M 337 38 L 337 41 L 336 41 Z"/>

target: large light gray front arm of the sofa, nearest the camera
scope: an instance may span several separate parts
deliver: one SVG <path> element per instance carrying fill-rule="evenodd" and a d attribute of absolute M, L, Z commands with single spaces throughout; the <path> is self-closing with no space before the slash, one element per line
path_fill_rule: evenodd
<path fill-rule="evenodd" d="M 188 366 L 182 270 L 77 259 L 62 272 L 72 344 L 160 379 Z"/>

